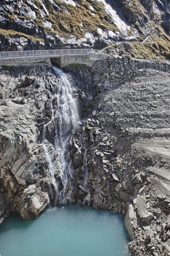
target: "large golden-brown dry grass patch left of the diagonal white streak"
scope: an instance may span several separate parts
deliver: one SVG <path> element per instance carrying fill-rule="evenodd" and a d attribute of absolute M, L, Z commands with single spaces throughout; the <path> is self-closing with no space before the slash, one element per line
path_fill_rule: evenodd
<path fill-rule="evenodd" d="M 70 4 L 55 0 L 55 3 L 61 9 L 61 12 L 56 12 L 50 1 L 44 0 L 43 2 L 48 11 L 50 10 L 49 15 L 46 15 L 45 20 L 51 22 L 54 29 L 54 31 L 49 31 L 49 29 L 44 28 L 48 33 L 51 32 L 51 34 L 58 34 L 66 38 L 70 35 L 76 35 L 77 38 L 82 38 L 85 31 L 96 32 L 97 28 L 106 31 L 118 30 L 105 11 L 102 2 L 78 0 L 78 5 L 74 7 Z M 39 1 L 34 0 L 34 3 L 43 11 Z M 94 11 L 91 11 L 90 5 L 94 7 Z M 65 12 L 62 6 L 65 6 L 68 12 Z M 92 13 L 95 15 L 92 15 Z M 40 15 L 40 11 L 37 11 L 36 15 L 37 19 L 34 20 L 36 26 L 42 27 L 43 18 Z M 82 26 L 80 23 L 82 23 Z"/>

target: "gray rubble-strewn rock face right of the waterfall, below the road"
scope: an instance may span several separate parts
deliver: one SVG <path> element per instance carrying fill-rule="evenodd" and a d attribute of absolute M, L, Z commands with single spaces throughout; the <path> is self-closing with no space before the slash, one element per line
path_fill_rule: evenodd
<path fill-rule="evenodd" d="M 126 213 L 132 256 L 168 255 L 169 63 L 114 61 L 99 61 L 91 69 L 100 72 L 99 80 L 94 79 L 99 95 L 74 136 L 74 143 L 87 156 L 81 166 L 89 177 L 87 180 L 77 166 L 73 197 L 84 202 L 90 193 L 95 209 Z M 130 67 L 134 76 L 128 78 Z M 116 81 L 111 76 L 114 71 L 121 75 Z M 102 90 L 98 84 L 103 85 Z M 166 119 L 161 118 L 162 113 Z"/>

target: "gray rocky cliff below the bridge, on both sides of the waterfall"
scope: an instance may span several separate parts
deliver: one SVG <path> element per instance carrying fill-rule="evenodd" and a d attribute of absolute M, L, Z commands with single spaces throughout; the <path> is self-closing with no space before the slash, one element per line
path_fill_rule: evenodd
<path fill-rule="evenodd" d="M 169 65 L 117 57 L 67 67 L 80 116 L 67 200 L 125 214 L 132 256 L 170 252 Z M 37 218 L 57 203 L 54 182 L 63 189 L 52 116 L 59 79 L 43 65 L 0 70 L 1 222 L 13 211 Z"/>

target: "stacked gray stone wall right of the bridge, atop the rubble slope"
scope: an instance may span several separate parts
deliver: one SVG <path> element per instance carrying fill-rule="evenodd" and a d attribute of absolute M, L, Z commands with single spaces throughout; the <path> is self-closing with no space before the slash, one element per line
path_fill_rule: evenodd
<path fill-rule="evenodd" d="M 170 73 L 170 62 L 115 57 L 96 61 L 91 67 L 91 72 L 94 74 L 94 83 L 102 92 L 105 88 L 128 81 L 141 73 L 148 76 L 148 69 Z"/>

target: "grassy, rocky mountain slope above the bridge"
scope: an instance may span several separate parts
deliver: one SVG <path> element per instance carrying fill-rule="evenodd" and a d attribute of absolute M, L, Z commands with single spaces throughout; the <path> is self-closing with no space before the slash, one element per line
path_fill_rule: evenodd
<path fill-rule="evenodd" d="M 4 0 L 0 51 L 109 47 L 114 54 L 169 58 L 169 9 L 168 0 Z"/>

